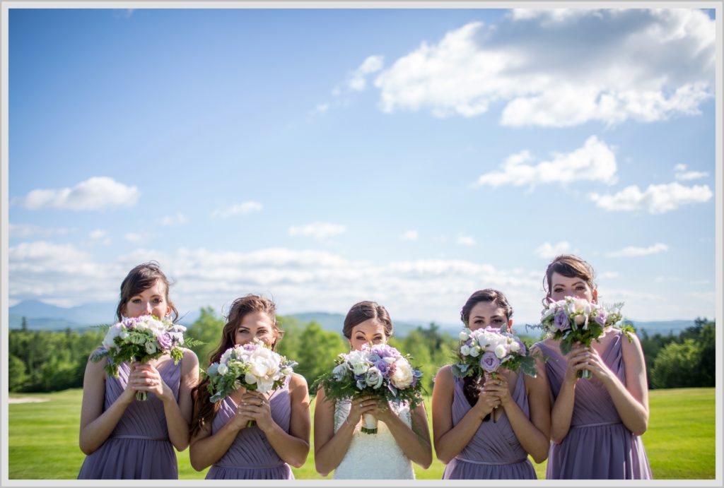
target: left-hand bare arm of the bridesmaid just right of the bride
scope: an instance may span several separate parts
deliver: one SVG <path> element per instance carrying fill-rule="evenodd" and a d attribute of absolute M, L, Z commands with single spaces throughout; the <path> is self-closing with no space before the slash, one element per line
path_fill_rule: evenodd
<path fill-rule="evenodd" d="M 478 431 L 480 424 L 493 408 L 500 404 L 497 396 L 481 392 L 473 406 L 454 427 L 452 400 L 455 378 L 450 366 L 439 369 L 432 389 L 432 432 L 437 458 L 447 464 L 462 451 Z"/>

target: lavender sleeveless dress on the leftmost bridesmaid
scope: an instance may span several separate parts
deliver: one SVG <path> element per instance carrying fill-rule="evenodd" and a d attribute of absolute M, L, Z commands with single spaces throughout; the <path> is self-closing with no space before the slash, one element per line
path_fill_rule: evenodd
<path fill-rule="evenodd" d="M 181 364 L 172 359 L 157 369 L 178 401 Z M 118 378 L 106 374 L 103 410 L 125 390 L 130 366 L 121 363 Z M 126 408 L 115 429 L 96 451 L 85 457 L 78 479 L 178 479 L 176 453 L 169 440 L 164 404 L 155 393 L 146 401 L 134 400 Z"/>

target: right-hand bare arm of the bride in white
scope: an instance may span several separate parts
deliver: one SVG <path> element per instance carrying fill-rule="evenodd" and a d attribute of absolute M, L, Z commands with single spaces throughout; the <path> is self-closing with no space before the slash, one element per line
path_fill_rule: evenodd
<path fill-rule="evenodd" d="M 430 446 L 430 430 L 427 426 L 427 413 L 424 404 L 418 405 L 410 412 L 412 427 L 395 414 L 390 406 L 375 408 L 370 414 L 383 421 L 390 429 L 395 442 L 403 450 L 410 461 L 427 469 L 432 463 L 432 447 Z"/>

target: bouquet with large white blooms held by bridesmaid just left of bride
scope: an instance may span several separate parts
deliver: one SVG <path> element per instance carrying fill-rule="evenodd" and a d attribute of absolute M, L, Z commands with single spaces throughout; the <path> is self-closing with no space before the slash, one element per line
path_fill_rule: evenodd
<path fill-rule="evenodd" d="M 209 377 L 210 401 L 217 402 L 239 388 L 269 393 L 284 385 L 297 363 L 289 361 L 271 350 L 265 343 L 254 339 L 243 346 L 228 348 L 217 363 L 206 370 Z M 250 420 L 246 427 L 253 427 Z"/>

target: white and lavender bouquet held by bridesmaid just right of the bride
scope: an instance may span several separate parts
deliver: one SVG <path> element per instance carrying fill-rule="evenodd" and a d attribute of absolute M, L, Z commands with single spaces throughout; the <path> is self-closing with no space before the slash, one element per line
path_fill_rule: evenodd
<path fill-rule="evenodd" d="M 498 328 L 460 331 L 460 345 L 455 350 L 457 364 L 452 364 L 452 374 L 486 379 L 496 378 L 500 367 L 511 371 L 521 370 L 529 376 L 536 376 L 536 360 L 526 354 L 526 346 L 515 335 Z"/>

